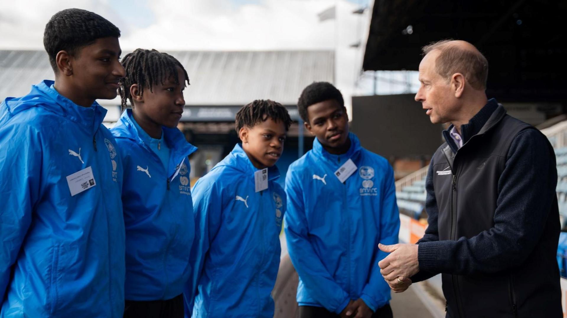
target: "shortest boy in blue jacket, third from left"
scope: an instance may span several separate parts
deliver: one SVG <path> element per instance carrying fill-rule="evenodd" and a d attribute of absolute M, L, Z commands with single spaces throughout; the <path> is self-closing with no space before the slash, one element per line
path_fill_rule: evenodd
<path fill-rule="evenodd" d="M 244 106 L 236 114 L 242 145 L 193 187 L 194 274 L 184 295 L 186 317 L 273 317 L 270 293 L 286 209 L 275 164 L 290 124 L 277 102 Z"/>

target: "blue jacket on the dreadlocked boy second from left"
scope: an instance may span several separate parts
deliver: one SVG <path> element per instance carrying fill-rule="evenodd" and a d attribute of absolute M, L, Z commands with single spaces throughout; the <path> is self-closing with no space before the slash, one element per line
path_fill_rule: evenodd
<path fill-rule="evenodd" d="M 125 298 L 167 300 L 183 293 L 191 273 L 194 223 L 187 156 L 197 148 L 179 129 L 162 127 L 170 148 L 166 171 L 133 120 L 128 109 L 111 129 L 124 165 Z"/>

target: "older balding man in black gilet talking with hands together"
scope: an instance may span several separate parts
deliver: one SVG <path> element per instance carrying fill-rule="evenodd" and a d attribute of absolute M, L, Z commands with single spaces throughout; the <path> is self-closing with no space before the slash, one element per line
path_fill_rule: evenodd
<path fill-rule="evenodd" d="M 555 154 L 536 128 L 487 100 L 488 62 L 465 41 L 423 48 L 421 102 L 451 123 L 426 179 L 417 244 L 380 246 L 395 292 L 442 273 L 447 317 L 562 317 Z M 408 277 L 410 279 L 408 279 Z"/>

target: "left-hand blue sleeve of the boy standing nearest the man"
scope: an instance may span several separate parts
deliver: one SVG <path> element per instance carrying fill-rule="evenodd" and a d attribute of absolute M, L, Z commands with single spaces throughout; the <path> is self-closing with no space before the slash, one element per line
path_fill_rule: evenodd
<path fill-rule="evenodd" d="M 285 235 L 291 263 L 310 295 L 327 310 L 340 313 L 348 305 L 349 295 L 333 280 L 309 242 L 303 191 L 299 184 L 291 170 L 288 170 L 285 182 Z"/>

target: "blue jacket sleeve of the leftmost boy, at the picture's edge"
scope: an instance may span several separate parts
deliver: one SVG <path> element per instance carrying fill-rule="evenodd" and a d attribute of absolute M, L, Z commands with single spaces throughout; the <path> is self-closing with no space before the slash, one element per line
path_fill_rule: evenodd
<path fill-rule="evenodd" d="M 40 138 L 29 126 L 0 128 L 0 300 L 39 198 L 42 153 Z"/>

